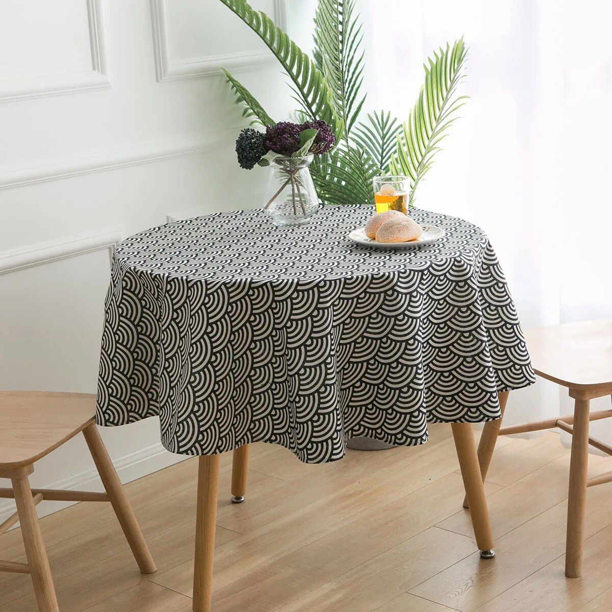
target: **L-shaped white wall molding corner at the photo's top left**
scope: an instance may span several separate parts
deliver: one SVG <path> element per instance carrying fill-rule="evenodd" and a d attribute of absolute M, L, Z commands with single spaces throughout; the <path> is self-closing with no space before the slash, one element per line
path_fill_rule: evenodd
<path fill-rule="evenodd" d="M 0 81 L 0 102 L 71 94 L 111 86 L 108 69 L 108 38 L 103 0 L 87 0 L 92 69 L 59 75 L 32 76 Z"/>

